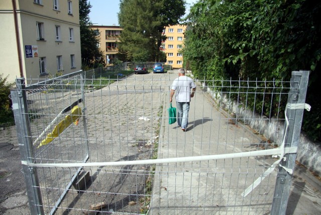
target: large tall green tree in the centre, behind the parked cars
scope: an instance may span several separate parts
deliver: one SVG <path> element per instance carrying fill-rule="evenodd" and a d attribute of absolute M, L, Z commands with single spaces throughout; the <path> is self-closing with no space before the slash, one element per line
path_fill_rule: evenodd
<path fill-rule="evenodd" d="M 176 25 L 185 14 L 183 0 L 121 0 L 118 21 L 124 29 L 119 53 L 128 61 L 164 60 L 159 51 L 163 30 Z"/>

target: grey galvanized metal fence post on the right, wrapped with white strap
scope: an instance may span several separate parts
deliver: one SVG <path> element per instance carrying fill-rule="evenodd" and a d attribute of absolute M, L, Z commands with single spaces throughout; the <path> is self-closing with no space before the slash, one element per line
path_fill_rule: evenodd
<path fill-rule="evenodd" d="M 288 94 L 288 103 L 305 103 L 309 71 L 292 71 L 291 88 Z M 284 147 L 298 147 L 303 118 L 303 109 L 287 109 L 289 120 L 288 132 Z M 296 153 L 286 154 L 280 164 L 288 169 L 294 169 Z M 276 184 L 271 208 L 271 214 L 285 214 L 290 194 L 292 175 L 281 166 L 278 167 Z"/>

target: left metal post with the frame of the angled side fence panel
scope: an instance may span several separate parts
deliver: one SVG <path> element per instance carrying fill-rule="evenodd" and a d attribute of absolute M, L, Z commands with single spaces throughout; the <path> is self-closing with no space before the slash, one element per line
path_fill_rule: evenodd
<path fill-rule="evenodd" d="M 28 117 L 28 101 L 27 101 L 27 92 L 33 90 L 36 91 L 44 91 L 46 88 L 38 89 L 38 85 L 51 85 L 54 84 L 56 81 L 61 81 L 64 79 L 68 79 L 69 77 L 80 75 L 79 83 L 81 86 L 81 98 L 83 102 L 83 107 L 85 107 L 85 97 L 84 97 L 84 77 L 83 77 L 83 71 L 77 71 L 74 73 L 70 73 L 67 75 L 63 75 L 61 77 L 48 79 L 45 81 L 39 82 L 39 80 L 35 80 L 36 83 L 30 84 L 29 86 L 26 86 L 26 82 L 24 78 L 18 78 L 17 79 L 17 90 L 11 91 L 11 96 L 13 100 L 13 111 L 15 115 L 15 123 L 16 123 L 16 129 L 17 129 L 17 135 L 18 135 L 18 142 L 19 142 L 19 148 L 20 148 L 20 155 L 22 161 L 27 161 L 30 163 L 35 163 L 35 160 L 33 159 L 35 157 L 34 149 L 33 149 L 33 141 L 32 141 L 32 135 L 30 131 L 30 122 Z M 83 162 L 86 162 L 89 159 L 89 153 L 88 153 L 88 138 L 87 138 L 87 124 L 86 124 L 86 117 L 83 115 L 83 122 L 84 122 L 84 139 L 86 140 L 87 145 L 87 155 L 85 156 Z M 79 167 L 77 169 L 76 174 L 72 177 L 71 181 L 68 183 L 68 185 L 65 187 L 64 191 L 62 192 L 60 198 L 55 203 L 55 207 L 50 211 L 50 214 L 54 214 L 56 212 L 56 209 L 61 204 L 61 201 L 64 199 L 66 193 L 72 186 L 72 184 L 77 180 L 79 177 L 79 173 L 82 171 L 82 167 Z M 25 182 L 27 187 L 27 194 L 29 198 L 29 206 L 31 214 L 44 214 L 44 209 L 41 205 L 43 205 L 41 193 L 39 190 L 39 179 L 37 175 L 37 171 L 35 167 L 28 167 L 26 165 L 23 165 L 23 172 L 25 176 Z"/>

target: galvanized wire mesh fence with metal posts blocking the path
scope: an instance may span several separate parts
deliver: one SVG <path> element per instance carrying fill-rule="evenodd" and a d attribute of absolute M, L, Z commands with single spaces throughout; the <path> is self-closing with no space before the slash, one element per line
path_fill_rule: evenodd
<path fill-rule="evenodd" d="M 120 75 L 18 80 L 13 109 L 32 214 L 285 213 L 298 139 L 283 133 L 299 133 L 308 72 L 293 72 L 292 82 L 196 80 L 185 133 L 168 125 L 176 73 Z M 281 106 L 289 94 L 300 105 Z"/>

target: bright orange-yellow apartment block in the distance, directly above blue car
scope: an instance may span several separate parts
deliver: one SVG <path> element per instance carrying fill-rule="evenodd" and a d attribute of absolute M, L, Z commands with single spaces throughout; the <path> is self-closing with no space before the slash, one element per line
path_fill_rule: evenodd
<path fill-rule="evenodd" d="M 183 55 L 180 50 L 183 48 L 185 30 L 184 25 L 170 26 L 165 29 L 167 40 L 162 42 L 160 50 L 166 53 L 166 64 L 173 68 L 183 67 Z"/>

